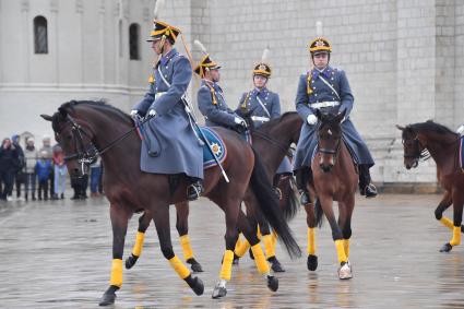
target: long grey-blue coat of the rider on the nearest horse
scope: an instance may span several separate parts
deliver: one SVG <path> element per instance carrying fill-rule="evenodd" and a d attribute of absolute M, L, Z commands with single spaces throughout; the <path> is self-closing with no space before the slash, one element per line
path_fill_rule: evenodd
<path fill-rule="evenodd" d="M 160 153 L 156 157 L 150 156 L 146 143 L 142 143 L 141 169 L 155 174 L 183 173 L 203 178 L 203 150 L 181 102 L 192 79 L 190 62 L 172 49 L 160 59 L 153 76 L 148 92 L 134 109 L 141 115 L 156 110 L 156 116 L 143 126 L 143 130 L 148 139 L 157 141 Z M 159 96 L 159 93 L 165 94 Z"/>

